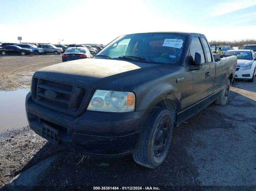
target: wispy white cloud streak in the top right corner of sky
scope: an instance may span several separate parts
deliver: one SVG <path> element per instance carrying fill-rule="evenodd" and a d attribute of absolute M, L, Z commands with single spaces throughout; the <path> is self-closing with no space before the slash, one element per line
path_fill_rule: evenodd
<path fill-rule="evenodd" d="M 215 3 L 215 6 L 211 9 L 215 9 L 211 12 L 212 16 L 219 16 L 234 11 L 238 11 L 244 8 L 248 8 L 256 5 L 255 0 L 226 0 L 221 3 Z"/>

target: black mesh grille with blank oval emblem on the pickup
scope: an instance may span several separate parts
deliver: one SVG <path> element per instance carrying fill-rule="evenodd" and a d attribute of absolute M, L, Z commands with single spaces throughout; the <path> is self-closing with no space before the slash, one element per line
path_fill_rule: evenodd
<path fill-rule="evenodd" d="M 35 91 L 32 93 L 34 101 L 71 114 L 79 112 L 86 96 L 86 88 L 41 78 L 38 78 L 37 81 L 38 83 L 32 84 L 32 91 Z M 47 90 L 51 90 L 48 91 L 51 93 L 47 94 Z"/>

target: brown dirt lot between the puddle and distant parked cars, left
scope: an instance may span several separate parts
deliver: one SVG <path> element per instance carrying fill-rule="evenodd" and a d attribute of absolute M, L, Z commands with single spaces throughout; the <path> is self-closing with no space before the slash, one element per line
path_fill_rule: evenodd
<path fill-rule="evenodd" d="M 61 55 L 0 56 L 0 91 L 29 88 L 35 71 L 62 62 Z"/>

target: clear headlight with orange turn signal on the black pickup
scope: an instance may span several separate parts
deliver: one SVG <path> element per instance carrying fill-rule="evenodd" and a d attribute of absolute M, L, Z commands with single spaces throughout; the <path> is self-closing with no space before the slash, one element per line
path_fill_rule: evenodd
<path fill-rule="evenodd" d="M 135 94 L 128 91 L 96 90 L 87 110 L 129 112 L 135 109 Z"/>

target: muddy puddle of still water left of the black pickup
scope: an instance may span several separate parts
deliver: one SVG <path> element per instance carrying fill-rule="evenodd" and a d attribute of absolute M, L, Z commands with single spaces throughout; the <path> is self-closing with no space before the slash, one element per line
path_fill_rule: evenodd
<path fill-rule="evenodd" d="M 25 97 L 29 89 L 0 91 L 0 133 L 28 125 Z"/>

